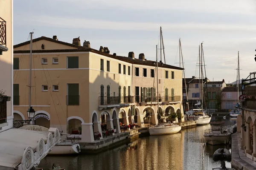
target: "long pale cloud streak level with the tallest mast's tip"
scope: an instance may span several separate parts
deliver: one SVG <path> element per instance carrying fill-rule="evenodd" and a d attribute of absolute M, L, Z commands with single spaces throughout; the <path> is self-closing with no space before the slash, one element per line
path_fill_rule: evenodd
<path fill-rule="evenodd" d="M 27 18 L 27 20 L 23 20 Z M 90 28 L 111 30 L 156 31 L 163 26 L 165 31 L 207 30 L 207 31 L 256 31 L 256 25 L 213 24 L 213 23 L 136 23 L 91 20 L 87 18 L 51 17 L 47 15 L 17 16 L 17 25 L 37 25 L 61 28 Z"/>

